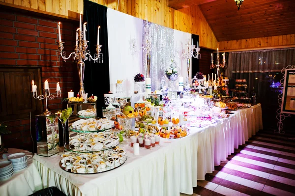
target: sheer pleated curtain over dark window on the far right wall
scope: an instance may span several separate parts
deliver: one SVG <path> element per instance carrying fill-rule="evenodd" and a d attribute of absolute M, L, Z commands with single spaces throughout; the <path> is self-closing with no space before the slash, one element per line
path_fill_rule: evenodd
<path fill-rule="evenodd" d="M 262 104 L 264 127 L 275 129 L 276 110 L 279 107 L 277 100 L 281 93 L 281 70 L 294 64 L 295 48 L 231 52 L 225 75 L 233 79 L 246 79 L 248 92 L 255 88 L 258 102 Z M 286 131 L 289 128 L 292 130 L 294 120 L 295 116 L 286 118 Z"/>

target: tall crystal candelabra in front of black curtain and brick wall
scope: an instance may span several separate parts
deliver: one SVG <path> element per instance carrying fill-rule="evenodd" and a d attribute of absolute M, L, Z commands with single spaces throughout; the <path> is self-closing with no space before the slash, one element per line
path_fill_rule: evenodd
<path fill-rule="evenodd" d="M 64 61 L 69 59 L 71 56 L 73 57 L 73 61 L 75 60 L 77 62 L 77 67 L 78 67 L 78 72 L 79 72 L 79 79 L 80 79 L 80 94 L 82 95 L 85 93 L 84 91 L 84 69 L 85 69 L 85 63 L 84 61 L 92 59 L 94 62 L 100 63 L 100 59 L 102 60 L 103 63 L 103 54 L 101 52 L 101 47 L 102 45 L 95 45 L 96 53 L 92 57 L 90 55 L 90 51 L 87 50 L 88 48 L 88 42 L 87 40 L 83 40 L 83 31 L 81 29 L 77 30 L 78 34 L 78 39 L 76 39 L 76 47 L 75 51 L 72 52 L 68 57 L 66 57 L 65 51 L 63 51 L 63 43 L 64 42 L 58 42 L 59 44 L 59 51 L 58 51 L 58 56 L 60 55 Z"/>

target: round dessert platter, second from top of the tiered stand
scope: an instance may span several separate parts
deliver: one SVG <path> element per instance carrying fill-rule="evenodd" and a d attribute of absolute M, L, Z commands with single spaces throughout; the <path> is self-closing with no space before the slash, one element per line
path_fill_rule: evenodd
<path fill-rule="evenodd" d="M 101 132 L 109 130 L 115 126 L 115 121 L 107 120 L 105 118 L 100 119 L 80 119 L 70 126 L 70 130 L 74 132 L 87 133 L 87 132 Z"/>

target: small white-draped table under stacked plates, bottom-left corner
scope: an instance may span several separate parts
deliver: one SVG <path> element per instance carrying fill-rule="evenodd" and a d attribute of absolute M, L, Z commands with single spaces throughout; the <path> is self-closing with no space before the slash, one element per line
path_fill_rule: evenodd
<path fill-rule="evenodd" d="M 26 150 L 9 148 L 7 153 L 18 153 L 24 151 Z M 1 156 L 0 161 L 2 160 Z M 27 168 L 14 171 L 12 177 L 0 181 L 1 196 L 28 196 L 41 189 L 41 177 L 32 158 L 28 159 Z"/>

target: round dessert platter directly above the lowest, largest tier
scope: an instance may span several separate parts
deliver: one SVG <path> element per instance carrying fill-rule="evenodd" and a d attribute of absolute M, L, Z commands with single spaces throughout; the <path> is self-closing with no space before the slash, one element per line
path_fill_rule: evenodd
<path fill-rule="evenodd" d="M 70 137 L 68 150 L 72 152 L 98 152 L 115 147 L 119 142 L 119 137 L 109 131 L 78 133 L 76 136 Z"/>

